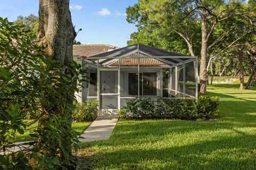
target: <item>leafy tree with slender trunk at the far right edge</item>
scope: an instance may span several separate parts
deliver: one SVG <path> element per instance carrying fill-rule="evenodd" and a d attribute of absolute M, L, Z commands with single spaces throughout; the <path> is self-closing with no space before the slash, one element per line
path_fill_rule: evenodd
<path fill-rule="evenodd" d="M 246 49 L 249 44 L 253 43 L 251 37 L 255 36 L 255 10 L 249 4 L 241 4 L 241 7 L 236 10 L 239 15 L 235 15 L 225 23 L 217 25 L 216 33 L 223 32 L 224 36 L 220 43 L 211 49 L 210 60 L 220 57 L 223 53 L 229 54 L 231 61 L 236 61 L 239 64 L 239 76 L 241 80 L 240 89 L 244 89 L 244 67 L 250 62 L 249 57 L 246 57 Z M 213 33 L 213 36 L 215 35 Z M 216 61 L 216 60 L 215 60 Z M 209 69 L 209 63 L 207 70 Z M 233 64 L 234 65 L 234 64 Z M 248 66 L 247 66 L 248 67 Z M 248 67 L 249 68 L 249 67 Z"/>

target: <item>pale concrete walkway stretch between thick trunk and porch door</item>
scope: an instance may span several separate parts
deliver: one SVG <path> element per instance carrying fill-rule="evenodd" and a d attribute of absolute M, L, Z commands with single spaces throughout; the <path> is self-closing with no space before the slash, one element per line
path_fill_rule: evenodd
<path fill-rule="evenodd" d="M 91 142 L 109 139 L 119 115 L 99 114 L 92 124 L 80 135 L 81 142 Z"/>

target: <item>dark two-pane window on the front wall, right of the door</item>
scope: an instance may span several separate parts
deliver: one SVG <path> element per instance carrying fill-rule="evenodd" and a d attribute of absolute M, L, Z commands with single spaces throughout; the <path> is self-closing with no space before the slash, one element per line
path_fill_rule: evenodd
<path fill-rule="evenodd" d="M 130 96 L 138 96 L 138 73 L 129 73 L 128 89 Z M 140 73 L 140 96 L 157 95 L 157 73 Z"/>

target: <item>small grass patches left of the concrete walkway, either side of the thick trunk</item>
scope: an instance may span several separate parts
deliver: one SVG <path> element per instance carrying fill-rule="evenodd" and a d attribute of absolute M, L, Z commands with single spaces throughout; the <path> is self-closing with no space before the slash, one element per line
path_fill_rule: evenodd
<path fill-rule="evenodd" d="M 32 120 L 28 120 L 28 121 L 31 122 Z M 30 130 L 35 130 L 37 128 L 37 124 L 38 123 L 34 123 L 28 126 L 26 129 L 29 129 L 29 130 L 25 130 L 24 134 L 19 134 L 17 132 L 15 138 L 11 142 L 31 140 L 31 138 L 29 137 Z M 76 131 L 77 135 L 80 135 L 90 124 L 91 122 L 75 122 L 75 123 L 72 123 L 72 128 L 73 130 Z"/>

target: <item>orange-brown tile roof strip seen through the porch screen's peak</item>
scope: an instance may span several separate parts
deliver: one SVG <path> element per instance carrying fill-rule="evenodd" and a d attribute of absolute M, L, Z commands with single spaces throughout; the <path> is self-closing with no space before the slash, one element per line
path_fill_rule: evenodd
<path fill-rule="evenodd" d="M 122 58 L 121 66 L 137 66 L 137 58 Z M 155 58 L 140 58 L 140 66 L 164 66 L 165 63 L 156 60 Z M 119 62 L 116 61 L 109 66 L 119 66 Z"/>

